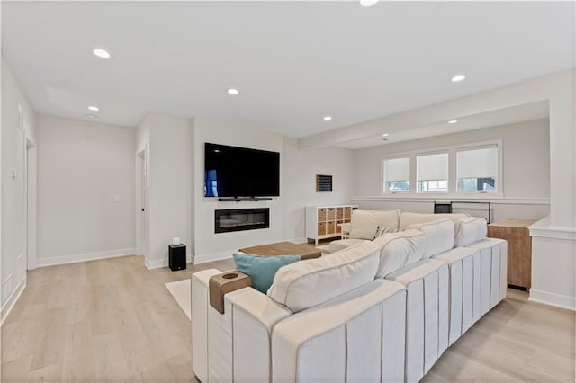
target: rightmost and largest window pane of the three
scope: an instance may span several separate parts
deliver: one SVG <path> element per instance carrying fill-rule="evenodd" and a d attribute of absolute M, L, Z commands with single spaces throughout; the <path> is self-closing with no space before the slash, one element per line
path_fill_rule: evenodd
<path fill-rule="evenodd" d="M 456 174 L 458 191 L 497 191 L 498 147 L 459 150 Z"/>

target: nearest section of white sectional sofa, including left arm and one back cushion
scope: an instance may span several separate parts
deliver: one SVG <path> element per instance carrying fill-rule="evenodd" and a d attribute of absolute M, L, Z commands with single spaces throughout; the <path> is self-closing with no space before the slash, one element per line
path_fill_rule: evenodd
<path fill-rule="evenodd" d="M 224 314 L 208 304 L 209 279 L 220 271 L 194 273 L 196 376 L 202 382 L 403 380 L 406 290 L 375 278 L 379 262 L 380 249 L 365 241 L 284 266 L 267 295 L 252 288 L 226 294 Z"/>

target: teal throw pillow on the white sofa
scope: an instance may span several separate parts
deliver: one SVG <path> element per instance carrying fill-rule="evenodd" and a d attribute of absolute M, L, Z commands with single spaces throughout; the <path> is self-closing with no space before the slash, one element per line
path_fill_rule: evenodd
<path fill-rule="evenodd" d="M 260 256 L 235 253 L 234 264 L 238 272 L 244 272 L 252 278 L 252 287 L 266 294 L 274 275 L 282 266 L 300 261 L 300 255 Z"/>

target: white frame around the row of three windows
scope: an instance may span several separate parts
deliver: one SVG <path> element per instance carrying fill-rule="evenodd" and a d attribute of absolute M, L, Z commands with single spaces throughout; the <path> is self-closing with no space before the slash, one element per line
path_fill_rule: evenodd
<path fill-rule="evenodd" d="M 458 179 L 456 173 L 456 153 L 460 150 L 470 150 L 470 149 L 480 149 L 482 147 L 493 147 L 496 146 L 498 150 L 498 174 L 496 174 L 495 180 L 495 190 L 494 191 L 458 191 Z M 503 163 L 503 145 L 501 139 L 491 139 L 485 141 L 469 142 L 466 144 L 456 144 L 449 145 L 445 147 L 430 147 L 414 149 L 405 152 L 383 154 L 380 160 L 380 193 L 388 197 L 424 197 L 424 196 L 442 196 L 443 199 L 446 197 L 457 197 L 457 198 L 478 198 L 482 195 L 489 194 L 491 197 L 504 197 L 504 183 L 502 177 Z M 416 169 L 416 157 L 421 155 L 433 155 L 438 153 L 448 153 L 448 191 L 418 191 L 418 180 L 417 180 L 417 169 Z M 385 191 L 384 188 L 384 160 L 410 157 L 410 191 Z"/>

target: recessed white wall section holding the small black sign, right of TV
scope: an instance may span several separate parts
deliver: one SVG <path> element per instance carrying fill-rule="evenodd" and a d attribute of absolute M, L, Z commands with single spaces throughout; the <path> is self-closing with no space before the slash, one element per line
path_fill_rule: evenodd
<path fill-rule="evenodd" d="M 298 140 L 284 138 L 284 238 L 306 240 L 306 206 L 347 204 L 355 190 L 354 151 L 341 147 L 300 149 Z M 333 191 L 316 191 L 316 174 L 333 175 Z"/>

